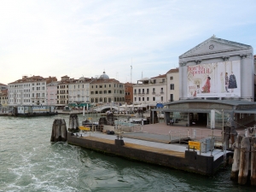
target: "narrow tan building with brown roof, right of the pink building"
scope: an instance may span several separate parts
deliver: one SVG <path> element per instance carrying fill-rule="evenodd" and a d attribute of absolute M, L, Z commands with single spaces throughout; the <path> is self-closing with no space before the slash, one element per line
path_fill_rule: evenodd
<path fill-rule="evenodd" d="M 68 105 L 69 84 L 77 80 L 70 79 L 67 75 L 61 77 L 61 82 L 57 85 L 57 104 L 56 106 L 62 108 Z"/>

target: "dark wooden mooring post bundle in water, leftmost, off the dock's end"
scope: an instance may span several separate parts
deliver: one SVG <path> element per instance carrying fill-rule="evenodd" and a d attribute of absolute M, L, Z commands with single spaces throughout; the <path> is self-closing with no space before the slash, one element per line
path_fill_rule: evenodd
<path fill-rule="evenodd" d="M 65 119 L 54 120 L 50 142 L 67 142 L 67 126 Z"/>

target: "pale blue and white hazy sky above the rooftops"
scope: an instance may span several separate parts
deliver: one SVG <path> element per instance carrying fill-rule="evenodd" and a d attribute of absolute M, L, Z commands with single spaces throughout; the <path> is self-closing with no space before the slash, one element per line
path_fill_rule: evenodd
<path fill-rule="evenodd" d="M 0 0 L 0 83 L 104 71 L 137 83 L 213 34 L 255 49 L 255 10 L 255 0 Z"/>

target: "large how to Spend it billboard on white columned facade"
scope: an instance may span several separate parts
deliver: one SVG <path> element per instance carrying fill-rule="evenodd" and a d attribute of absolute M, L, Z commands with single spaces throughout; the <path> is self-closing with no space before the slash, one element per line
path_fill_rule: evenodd
<path fill-rule="evenodd" d="M 240 97 L 240 61 L 188 66 L 188 97 Z"/>

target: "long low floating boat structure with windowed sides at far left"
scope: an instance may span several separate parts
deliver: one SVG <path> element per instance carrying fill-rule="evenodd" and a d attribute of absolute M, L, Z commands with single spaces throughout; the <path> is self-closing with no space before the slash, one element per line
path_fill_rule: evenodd
<path fill-rule="evenodd" d="M 9 115 L 19 117 L 36 117 L 56 115 L 53 105 L 20 105 L 9 107 Z"/>

